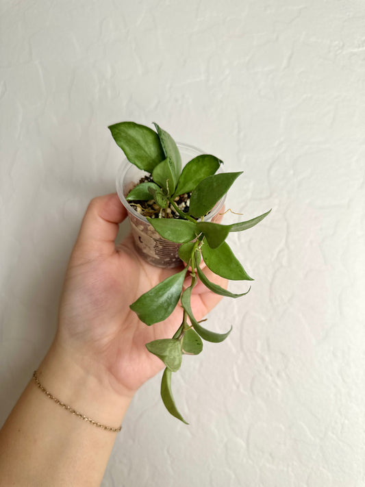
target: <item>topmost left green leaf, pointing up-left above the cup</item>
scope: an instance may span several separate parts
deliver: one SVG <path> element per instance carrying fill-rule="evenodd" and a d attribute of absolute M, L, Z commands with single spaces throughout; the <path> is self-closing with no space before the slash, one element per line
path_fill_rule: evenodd
<path fill-rule="evenodd" d="M 164 160 L 160 138 L 149 127 L 134 122 L 121 122 L 108 128 L 129 162 L 138 168 L 152 173 L 153 168 Z"/>

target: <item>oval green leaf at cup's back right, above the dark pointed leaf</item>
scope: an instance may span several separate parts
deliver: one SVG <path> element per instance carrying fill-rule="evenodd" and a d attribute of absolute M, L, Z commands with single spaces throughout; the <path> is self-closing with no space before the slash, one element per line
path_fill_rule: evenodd
<path fill-rule="evenodd" d="M 223 164 L 223 162 L 214 155 L 197 155 L 182 170 L 175 190 L 175 196 L 194 190 L 205 177 L 212 176 L 220 164 Z"/>

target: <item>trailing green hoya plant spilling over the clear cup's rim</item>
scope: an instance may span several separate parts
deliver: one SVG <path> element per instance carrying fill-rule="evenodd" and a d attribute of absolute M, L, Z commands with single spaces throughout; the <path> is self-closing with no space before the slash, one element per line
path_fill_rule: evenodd
<path fill-rule="evenodd" d="M 198 355 L 203 340 L 222 342 L 231 332 L 212 332 L 197 321 L 190 297 L 199 280 L 217 295 L 236 299 L 247 292 L 234 293 L 211 282 L 201 270 L 201 262 L 216 275 L 233 281 L 253 280 L 225 241 L 229 233 L 242 232 L 262 221 L 271 211 L 249 221 L 221 225 L 209 220 L 209 214 L 225 196 L 242 172 L 218 172 L 223 162 L 214 155 L 202 154 L 181 167 L 181 155 L 170 134 L 157 124 L 155 131 L 134 122 L 110 125 L 116 144 L 127 160 L 146 173 L 126 195 L 127 201 L 146 215 L 162 238 L 180 244 L 179 258 L 186 266 L 145 292 L 130 305 L 147 326 L 164 321 L 181 306 L 182 321 L 171 338 L 153 340 L 147 349 L 157 355 L 166 368 L 162 375 L 161 396 L 168 412 L 186 423 L 171 390 L 172 374 L 181 366 L 183 355 Z M 186 275 L 191 284 L 183 289 Z"/>

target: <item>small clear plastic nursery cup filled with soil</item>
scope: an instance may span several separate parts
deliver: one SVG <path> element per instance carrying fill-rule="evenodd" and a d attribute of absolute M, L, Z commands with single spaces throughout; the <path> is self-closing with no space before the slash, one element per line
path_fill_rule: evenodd
<path fill-rule="evenodd" d="M 183 167 L 197 155 L 205 153 L 197 147 L 187 144 L 177 143 L 177 147 L 179 147 Z M 221 170 L 218 169 L 218 171 Z M 180 266 L 181 260 L 177 252 L 181 244 L 162 238 L 147 221 L 147 218 L 136 212 L 125 199 L 131 188 L 136 186 L 140 178 L 147 174 L 125 159 L 116 177 L 116 192 L 128 212 L 134 244 L 144 260 L 153 266 L 165 268 Z M 218 201 L 213 210 L 205 216 L 204 221 L 214 221 L 214 217 L 221 210 L 224 201 L 225 197 Z"/>

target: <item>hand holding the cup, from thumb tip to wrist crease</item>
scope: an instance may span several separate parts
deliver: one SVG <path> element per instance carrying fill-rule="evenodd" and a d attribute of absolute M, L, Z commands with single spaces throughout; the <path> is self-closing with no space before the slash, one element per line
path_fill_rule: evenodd
<path fill-rule="evenodd" d="M 181 323 L 182 310 L 178 306 L 168 319 L 147 326 L 129 309 L 140 295 L 180 269 L 160 269 L 145 262 L 131 234 L 116 247 L 118 223 L 126 215 L 115 193 L 90 202 L 66 271 L 55 345 L 103 382 L 106 377 L 118 393 L 134 395 L 164 368 L 145 344 L 171 338 Z M 226 279 L 207 268 L 204 272 L 211 281 L 227 286 Z M 202 319 L 220 299 L 197 284 L 192 295 L 194 316 Z"/>

